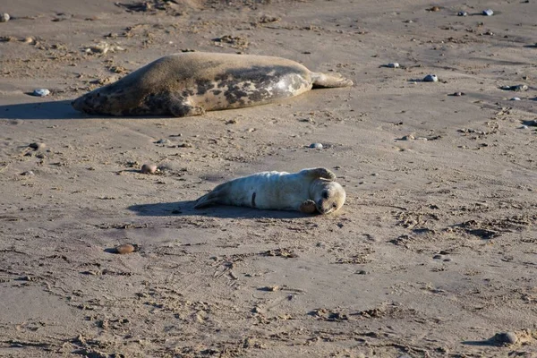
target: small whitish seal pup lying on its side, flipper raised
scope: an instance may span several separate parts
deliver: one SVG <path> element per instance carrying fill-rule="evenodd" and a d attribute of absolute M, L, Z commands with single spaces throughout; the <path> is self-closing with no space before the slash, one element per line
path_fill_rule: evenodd
<path fill-rule="evenodd" d="M 194 208 L 222 204 L 328 214 L 345 202 L 345 190 L 335 180 L 336 175 L 322 167 L 298 173 L 262 172 L 217 185 L 196 200 Z"/>

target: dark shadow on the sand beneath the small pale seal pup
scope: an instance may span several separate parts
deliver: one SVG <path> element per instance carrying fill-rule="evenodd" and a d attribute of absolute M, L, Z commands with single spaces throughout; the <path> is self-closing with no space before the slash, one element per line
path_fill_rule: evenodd
<path fill-rule="evenodd" d="M 159 202 L 155 204 L 132 205 L 127 208 L 142 217 L 200 216 L 220 218 L 298 218 L 311 217 L 298 211 L 260 210 L 232 206 L 215 206 L 194 209 L 194 201 Z"/>

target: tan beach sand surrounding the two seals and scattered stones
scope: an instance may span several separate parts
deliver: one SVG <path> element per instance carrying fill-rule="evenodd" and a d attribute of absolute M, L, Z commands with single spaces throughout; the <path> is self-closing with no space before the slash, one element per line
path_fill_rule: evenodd
<path fill-rule="evenodd" d="M 534 0 L 176 3 L 2 2 L 0 356 L 537 356 Z M 187 49 L 355 85 L 189 118 L 70 107 Z M 311 166 L 345 185 L 336 215 L 192 209 Z"/>

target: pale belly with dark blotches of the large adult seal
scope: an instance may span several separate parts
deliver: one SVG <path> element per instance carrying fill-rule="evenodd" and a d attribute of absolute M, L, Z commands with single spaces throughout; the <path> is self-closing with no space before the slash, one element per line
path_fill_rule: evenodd
<path fill-rule="evenodd" d="M 192 89 L 189 101 L 205 110 L 240 108 L 263 105 L 282 98 L 297 96 L 311 90 L 307 72 L 286 70 L 248 69 L 225 72 L 213 81 L 199 81 Z"/>

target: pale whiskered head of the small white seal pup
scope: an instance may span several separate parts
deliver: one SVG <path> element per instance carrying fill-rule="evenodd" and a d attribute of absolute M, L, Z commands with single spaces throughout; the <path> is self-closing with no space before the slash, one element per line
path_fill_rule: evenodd
<path fill-rule="evenodd" d="M 316 179 L 310 187 L 311 200 L 321 214 L 339 210 L 345 203 L 345 189 L 341 184 L 325 179 Z"/>

